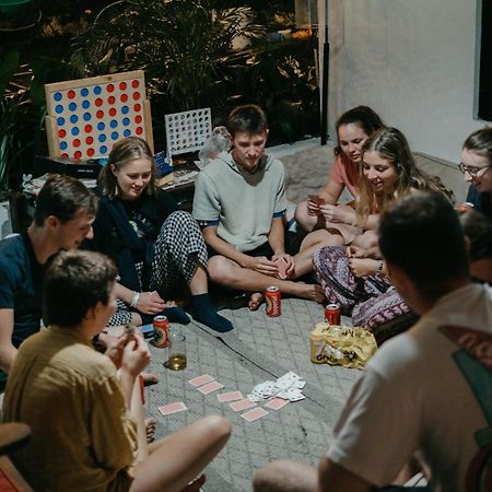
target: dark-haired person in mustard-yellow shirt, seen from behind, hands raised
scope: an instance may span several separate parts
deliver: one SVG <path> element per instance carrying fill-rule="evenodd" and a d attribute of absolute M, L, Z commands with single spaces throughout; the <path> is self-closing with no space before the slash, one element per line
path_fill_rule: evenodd
<path fill-rule="evenodd" d="M 49 326 L 21 345 L 7 385 L 3 421 L 32 429 L 11 459 L 39 491 L 198 490 L 202 479 L 187 484 L 227 441 L 229 421 L 210 415 L 147 446 L 136 384 L 150 360 L 144 340 L 120 340 L 107 355 L 91 347 L 115 312 L 115 265 L 97 253 L 54 259 Z"/>

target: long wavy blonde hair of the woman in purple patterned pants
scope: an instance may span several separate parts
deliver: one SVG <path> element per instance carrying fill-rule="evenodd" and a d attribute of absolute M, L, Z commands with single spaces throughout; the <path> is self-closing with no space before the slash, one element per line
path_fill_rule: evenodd
<path fill-rule="evenodd" d="M 410 147 L 403 133 L 396 128 L 382 128 L 370 137 L 363 147 L 363 157 L 366 152 L 377 152 L 380 157 L 388 161 L 397 173 L 397 180 L 391 194 L 385 194 L 379 213 L 400 197 L 411 190 L 433 190 L 446 195 L 454 201 L 453 192 L 447 190 L 437 176 L 431 176 L 419 169 L 413 160 Z M 359 199 L 356 213 L 362 219 L 375 212 L 376 196 L 368 179 L 365 177 L 363 166 L 360 167 Z"/>

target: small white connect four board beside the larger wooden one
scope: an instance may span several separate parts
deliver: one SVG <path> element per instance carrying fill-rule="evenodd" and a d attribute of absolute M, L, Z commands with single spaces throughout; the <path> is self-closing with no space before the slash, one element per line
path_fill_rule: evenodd
<path fill-rule="evenodd" d="M 212 133 L 210 107 L 165 115 L 165 124 L 169 155 L 202 149 Z"/>

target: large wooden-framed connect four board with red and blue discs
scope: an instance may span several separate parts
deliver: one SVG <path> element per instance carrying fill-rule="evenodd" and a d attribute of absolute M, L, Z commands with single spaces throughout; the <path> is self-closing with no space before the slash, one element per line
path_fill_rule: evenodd
<path fill-rule="evenodd" d="M 143 71 L 45 85 L 49 155 L 96 159 L 120 139 L 138 136 L 153 150 Z"/>

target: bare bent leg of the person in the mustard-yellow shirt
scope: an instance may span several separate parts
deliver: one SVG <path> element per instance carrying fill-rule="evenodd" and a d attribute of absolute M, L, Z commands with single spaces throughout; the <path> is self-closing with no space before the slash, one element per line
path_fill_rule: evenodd
<path fill-rule="evenodd" d="M 134 468 L 130 492 L 181 491 L 227 442 L 231 424 L 209 415 L 149 446 L 150 456 Z"/>

